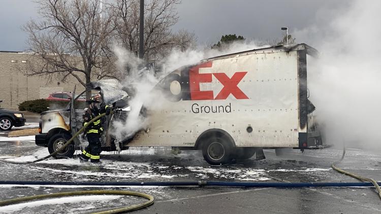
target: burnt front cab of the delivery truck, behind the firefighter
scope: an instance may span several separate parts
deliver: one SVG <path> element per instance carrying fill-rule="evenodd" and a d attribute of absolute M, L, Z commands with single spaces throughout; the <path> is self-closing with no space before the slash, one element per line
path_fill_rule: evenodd
<path fill-rule="evenodd" d="M 68 106 L 63 110 L 47 111 L 41 114 L 39 134 L 36 135 L 36 145 L 48 147 L 49 153 L 53 153 L 61 148 L 77 131 L 82 128 L 84 109 L 88 108 L 85 101 L 80 100 L 87 91 L 91 94 L 101 94 L 104 103 L 113 103 L 114 108 L 124 108 L 125 111 L 120 113 L 120 119 L 125 118 L 129 112 L 126 107 L 126 99 L 129 98 L 127 92 L 122 89 L 121 84 L 117 80 L 101 80 L 91 82 L 85 91 L 72 99 Z M 75 89 L 73 95 L 75 94 Z M 102 120 L 106 134 L 101 136 L 102 151 L 117 151 L 113 138 L 110 137 L 109 124 L 113 117 L 107 116 Z M 78 136 L 74 138 L 74 143 L 63 151 L 57 153 L 55 157 L 73 157 L 76 150 L 81 150 L 88 142 L 84 137 Z M 128 147 L 121 147 L 128 149 Z"/>

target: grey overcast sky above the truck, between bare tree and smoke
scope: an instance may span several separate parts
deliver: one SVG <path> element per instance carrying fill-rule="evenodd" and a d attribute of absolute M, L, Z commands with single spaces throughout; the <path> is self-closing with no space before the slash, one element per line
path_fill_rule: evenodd
<path fill-rule="evenodd" d="M 273 40 L 312 25 L 325 10 L 347 7 L 348 1 L 248 1 L 183 0 L 175 29 L 195 32 L 199 43 L 215 43 L 221 35 L 239 34 L 246 39 Z"/>

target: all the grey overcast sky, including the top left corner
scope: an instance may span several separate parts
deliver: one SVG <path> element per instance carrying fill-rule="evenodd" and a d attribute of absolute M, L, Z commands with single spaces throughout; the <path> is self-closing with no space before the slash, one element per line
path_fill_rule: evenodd
<path fill-rule="evenodd" d="M 37 4 L 31 0 L 0 2 L 0 51 L 27 49 L 27 34 L 21 27 L 38 18 Z M 319 21 L 322 11 L 341 9 L 347 4 L 345 0 L 182 0 L 177 6 L 180 20 L 173 30 L 194 32 L 201 45 L 214 44 L 221 35 L 230 33 L 246 39 L 279 40 L 281 27 L 289 27 L 290 33 L 307 28 Z"/>

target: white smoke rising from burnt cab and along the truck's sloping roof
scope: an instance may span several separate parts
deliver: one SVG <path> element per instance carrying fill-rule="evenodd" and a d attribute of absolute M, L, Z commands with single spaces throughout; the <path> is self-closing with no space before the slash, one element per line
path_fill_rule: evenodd
<path fill-rule="evenodd" d="M 131 112 L 126 121 L 114 121 L 112 135 L 115 136 L 117 141 L 122 141 L 125 138 L 133 136 L 136 132 L 146 129 L 149 125 L 149 117 L 140 114 L 142 106 L 148 111 L 154 108 L 158 109 L 161 106 L 161 100 L 156 99 L 160 91 L 152 90 L 153 87 L 165 75 L 171 73 L 173 70 L 184 66 L 198 63 L 200 60 L 214 57 L 218 55 L 246 51 L 251 49 L 260 48 L 256 45 L 255 41 L 248 41 L 245 43 L 233 43 L 228 48 L 219 51 L 210 49 L 210 47 L 197 48 L 187 51 L 173 50 L 171 54 L 163 59 L 165 72 L 160 76 L 154 76 L 152 72 L 146 69 L 139 69 L 142 64 L 141 59 L 137 58 L 135 54 L 120 48 L 114 47 L 114 53 L 118 57 L 116 66 L 120 72 L 125 73 L 126 67 L 130 68 L 130 72 L 121 80 L 122 84 L 134 91 L 134 94 L 129 100 Z"/>

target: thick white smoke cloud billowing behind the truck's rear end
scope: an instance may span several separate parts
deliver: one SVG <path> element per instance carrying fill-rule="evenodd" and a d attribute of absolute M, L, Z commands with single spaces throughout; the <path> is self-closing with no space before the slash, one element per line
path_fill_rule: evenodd
<path fill-rule="evenodd" d="M 321 53 L 307 59 L 307 79 L 329 143 L 379 148 L 380 10 L 380 1 L 354 1 L 317 13 L 315 26 L 293 33 Z"/>

